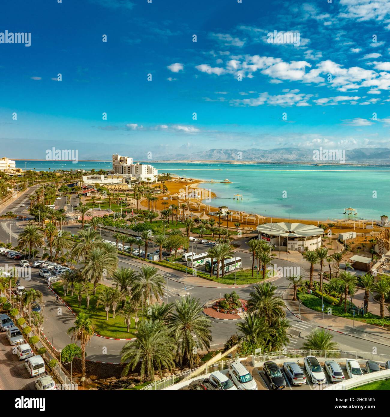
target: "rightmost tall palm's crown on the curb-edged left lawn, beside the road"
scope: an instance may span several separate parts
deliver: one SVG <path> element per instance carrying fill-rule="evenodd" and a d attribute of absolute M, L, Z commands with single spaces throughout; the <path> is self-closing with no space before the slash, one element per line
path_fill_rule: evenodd
<path fill-rule="evenodd" d="M 143 304 L 156 301 L 164 295 L 164 278 L 158 274 L 159 270 L 154 266 L 141 266 L 140 271 L 131 281 L 132 298 L 141 301 L 143 294 Z"/>

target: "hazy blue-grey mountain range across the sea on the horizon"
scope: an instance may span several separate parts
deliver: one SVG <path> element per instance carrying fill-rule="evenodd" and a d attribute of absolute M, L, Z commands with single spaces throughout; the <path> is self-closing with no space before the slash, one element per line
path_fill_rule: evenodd
<path fill-rule="evenodd" d="M 329 163 L 326 159 L 314 160 L 315 149 L 276 148 L 276 149 L 209 149 L 208 151 L 190 154 L 166 155 L 162 161 L 231 161 L 231 162 L 302 162 Z M 319 149 L 317 149 L 319 151 Z M 341 151 L 341 150 L 340 150 Z M 324 149 L 323 152 L 326 153 Z M 342 158 L 342 153 L 340 153 Z M 372 165 L 390 164 L 388 148 L 356 148 L 345 151 L 346 163 L 367 163 Z"/>

